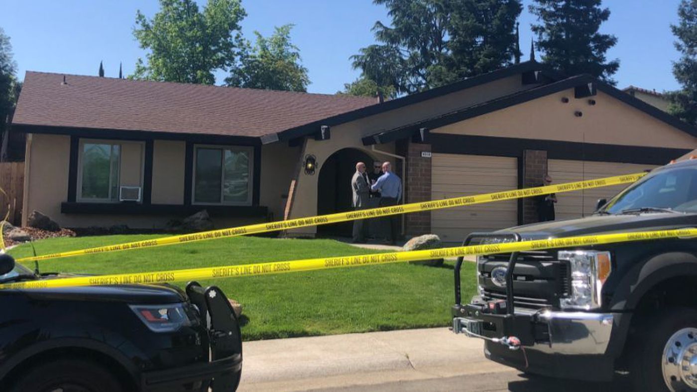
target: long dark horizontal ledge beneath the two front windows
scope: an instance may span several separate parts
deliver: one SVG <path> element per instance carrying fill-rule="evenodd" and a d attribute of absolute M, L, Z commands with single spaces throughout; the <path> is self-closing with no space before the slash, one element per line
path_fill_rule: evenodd
<path fill-rule="evenodd" d="M 150 204 L 139 203 L 61 203 L 61 213 L 74 214 L 128 214 L 128 215 L 174 215 L 190 216 L 198 211 L 206 210 L 212 216 L 225 217 L 263 217 L 266 218 L 266 206 L 184 206 L 181 204 Z"/>

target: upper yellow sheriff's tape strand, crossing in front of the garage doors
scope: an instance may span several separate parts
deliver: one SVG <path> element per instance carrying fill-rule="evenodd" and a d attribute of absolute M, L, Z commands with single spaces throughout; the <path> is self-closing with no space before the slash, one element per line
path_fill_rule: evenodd
<path fill-rule="evenodd" d="M 31 262 L 33 260 L 55 259 L 58 257 L 70 257 L 79 255 L 93 255 L 95 253 L 114 252 L 117 250 L 153 248 L 155 246 L 173 245 L 176 243 L 188 243 L 194 241 L 202 241 L 206 239 L 221 239 L 233 236 L 241 236 L 245 234 L 258 234 L 264 232 L 275 232 L 277 230 L 297 229 L 299 227 L 328 225 L 330 223 L 345 222 L 346 220 L 377 218 L 381 216 L 396 215 L 399 213 L 414 213 L 420 211 L 431 211 L 436 209 L 447 209 L 458 206 L 469 206 L 472 204 L 498 202 L 500 200 L 520 199 L 522 197 L 547 195 L 549 193 L 562 193 L 572 192 L 574 190 L 602 188 L 604 186 L 632 183 L 638 179 L 641 179 L 641 177 L 645 176 L 645 174 L 646 173 L 627 174 L 625 176 L 606 177 L 604 179 L 578 181 L 572 183 L 560 183 L 558 185 L 539 186 L 536 188 L 506 190 L 503 192 L 485 193 L 483 195 L 454 197 L 452 199 L 401 204 L 398 206 L 380 207 L 376 209 L 364 209 L 358 211 L 330 213 L 328 215 L 280 220 L 278 222 L 257 223 L 254 225 L 232 227 L 229 229 L 211 230 L 209 232 L 198 232 L 178 236 L 167 236 L 159 239 L 148 239 L 144 241 L 119 243 L 116 245 L 99 246 L 97 248 L 71 250 L 69 252 L 57 252 L 50 253 L 48 255 L 32 257 L 22 257 L 21 259 L 17 259 L 17 262 Z"/>

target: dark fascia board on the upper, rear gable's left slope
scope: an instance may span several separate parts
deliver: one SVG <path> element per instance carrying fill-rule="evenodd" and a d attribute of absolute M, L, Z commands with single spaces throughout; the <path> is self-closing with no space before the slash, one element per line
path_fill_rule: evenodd
<path fill-rule="evenodd" d="M 456 91 L 470 89 L 474 86 L 479 86 L 480 84 L 486 84 L 495 80 L 503 79 L 504 77 L 510 77 L 519 73 L 525 73 L 530 70 L 540 70 L 544 75 L 550 77 L 552 80 L 560 80 L 565 77 L 561 73 L 558 73 L 556 70 L 552 70 L 551 68 L 549 68 L 549 66 L 546 66 L 545 64 L 537 63 L 537 61 L 526 61 L 523 63 L 515 64 L 514 66 L 501 68 L 500 70 L 495 70 L 490 73 L 485 73 L 484 75 L 470 77 L 459 82 L 447 84 L 445 86 L 436 87 L 434 89 L 422 91 L 420 93 L 413 93 L 411 95 L 393 100 L 388 100 L 383 103 L 361 107 L 360 109 L 353 110 L 351 112 L 337 114 L 336 116 L 331 116 L 326 119 L 321 119 L 319 121 L 307 123 L 302 126 L 282 130 L 278 133 L 264 135 L 261 138 L 263 144 L 267 144 L 278 141 L 283 142 L 287 140 L 292 140 L 296 139 L 297 137 L 305 137 L 308 135 L 312 135 L 313 133 L 316 133 L 321 126 L 337 126 L 341 123 L 347 123 L 349 121 L 362 119 L 367 116 L 374 116 L 375 114 L 381 114 L 390 110 L 399 109 L 400 107 L 413 105 L 415 103 L 420 103 L 424 100 L 437 98 L 439 96 L 445 96 L 449 93 L 454 93 Z"/>

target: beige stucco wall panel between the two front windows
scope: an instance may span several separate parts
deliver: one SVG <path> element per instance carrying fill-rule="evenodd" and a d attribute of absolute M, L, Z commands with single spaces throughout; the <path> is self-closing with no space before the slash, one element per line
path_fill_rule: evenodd
<path fill-rule="evenodd" d="M 185 153 L 185 142 L 153 142 L 153 204 L 184 204 Z"/>

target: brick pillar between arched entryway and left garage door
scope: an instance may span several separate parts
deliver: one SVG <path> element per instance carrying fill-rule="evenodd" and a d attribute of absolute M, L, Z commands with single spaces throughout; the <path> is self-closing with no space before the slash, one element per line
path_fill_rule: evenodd
<path fill-rule="evenodd" d="M 406 145 L 406 203 L 427 202 L 431 199 L 431 158 L 422 158 L 422 151 L 431 151 L 431 144 L 411 141 Z M 418 236 L 431 232 L 431 212 L 409 213 L 406 218 L 405 234 Z"/>

